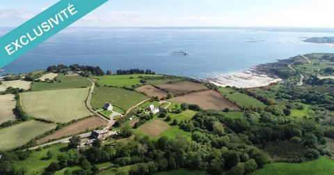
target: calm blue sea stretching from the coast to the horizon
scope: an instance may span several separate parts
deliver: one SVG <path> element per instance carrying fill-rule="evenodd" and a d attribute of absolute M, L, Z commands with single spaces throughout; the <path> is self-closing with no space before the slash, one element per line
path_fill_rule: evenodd
<path fill-rule="evenodd" d="M 0 29 L 0 35 L 6 31 Z M 10 63 L 4 73 L 79 63 L 113 72 L 141 68 L 194 78 L 216 77 L 298 54 L 334 52 L 334 47 L 301 41 L 333 35 L 329 29 L 72 27 Z M 189 56 L 175 56 L 174 52 Z"/>

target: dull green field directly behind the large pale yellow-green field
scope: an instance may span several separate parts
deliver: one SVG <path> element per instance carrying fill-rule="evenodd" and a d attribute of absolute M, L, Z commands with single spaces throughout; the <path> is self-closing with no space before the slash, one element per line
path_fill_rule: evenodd
<path fill-rule="evenodd" d="M 81 87 L 92 86 L 92 83 L 85 77 L 79 75 L 58 75 L 58 80 L 61 82 L 34 82 L 33 91 L 47 91 L 56 89 L 74 89 Z"/>

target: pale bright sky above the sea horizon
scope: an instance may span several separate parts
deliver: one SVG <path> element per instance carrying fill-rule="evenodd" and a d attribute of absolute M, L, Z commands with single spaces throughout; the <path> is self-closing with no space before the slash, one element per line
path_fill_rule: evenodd
<path fill-rule="evenodd" d="M 56 0 L 0 2 L 0 26 L 19 26 Z M 334 28 L 333 0 L 109 0 L 74 26 Z"/>

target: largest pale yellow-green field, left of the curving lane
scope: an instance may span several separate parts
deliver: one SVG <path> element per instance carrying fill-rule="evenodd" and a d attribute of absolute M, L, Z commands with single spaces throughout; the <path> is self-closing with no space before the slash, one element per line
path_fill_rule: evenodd
<path fill-rule="evenodd" d="M 35 118 L 68 123 L 92 115 L 86 108 L 88 88 L 21 93 L 22 105 Z"/>

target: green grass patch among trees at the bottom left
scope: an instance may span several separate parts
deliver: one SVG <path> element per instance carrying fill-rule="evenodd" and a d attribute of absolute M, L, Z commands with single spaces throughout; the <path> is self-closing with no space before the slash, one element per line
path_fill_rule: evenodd
<path fill-rule="evenodd" d="M 42 174 L 44 168 L 51 162 L 58 162 L 57 157 L 61 153 L 61 149 L 66 147 L 67 144 L 55 144 L 49 148 L 42 149 L 41 151 L 33 151 L 26 160 L 19 161 L 17 165 L 19 167 L 26 167 L 28 172 L 26 174 Z M 51 159 L 47 159 L 47 151 L 53 153 Z"/>

